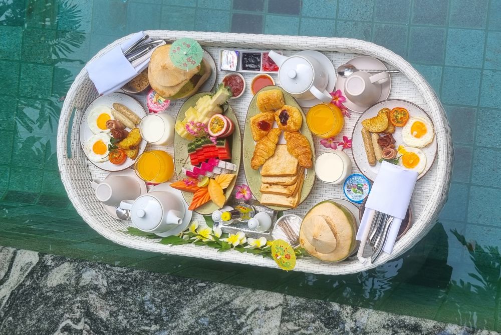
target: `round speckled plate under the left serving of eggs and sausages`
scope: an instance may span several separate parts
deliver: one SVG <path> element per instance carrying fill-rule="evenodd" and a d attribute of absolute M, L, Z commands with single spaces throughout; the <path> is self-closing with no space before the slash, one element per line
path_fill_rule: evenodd
<path fill-rule="evenodd" d="M 114 103 L 119 103 L 119 104 L 126 106 L 131 111 L 136 113 L 137 116 L 139 116 L 139 118 L 141 118 L 141 119 L 144 116 L 146 116 L 146 112 L 145 112 L 143 106 L 141 106 L 141 104 L 136 99 L 132 98 L 131 96 L 129 96 L 127 94 L 115 92 L 115 93 L 112 93 L 110 95 L 101 96 L 101 97 L 97 98 L 96 100 L 91 102 L 89 107 L 87 107 L 87 109 L 84 112 L 84 115 L 82 116 L 82 119 L 80 120 L 79 136 L 80 136 L 80 145 L 82 146 L 82 149 L 84 148 L 85 142 L 92 135 L 94 135 L 94 133 L 90 130 L 89 126 L 87 125 L 87 117 L 89 116 L 89 113 L 92 111 L 92 109 L 94 109 L 94 107 L 101 106 L 101 105 L 113 108 Z M 126 128 L 126 129 L 130 131 L 129 128 Z M 142 154 L 144 149 L 146 149 L 146 141 L 142 140 L 141 143 L 139 144 L 139 153 L 137 154 L 137 156 Z M 85 150 L 84 150 L 84 153 L 85 153 Z M 89 159 L 89 157 L 87 156 L 87 153 L 85 153 L 85 156 L 87 157 L 87 159 Z M 113 164 L 110 161 L 93 162 L 90 159 L 89 159 L 89 162 L 91 162 L 92 164 L 94 164 L 95 166 L 100 168 L 101 170 L 113 172 L 113 171 L 122 171 L 122 170 L 128 169 L 129 167 L 131 167 L 134 164 L 135 160 L 127 157 L 127 160 L 123 164 L 120 164 L 120 165 Z"/>

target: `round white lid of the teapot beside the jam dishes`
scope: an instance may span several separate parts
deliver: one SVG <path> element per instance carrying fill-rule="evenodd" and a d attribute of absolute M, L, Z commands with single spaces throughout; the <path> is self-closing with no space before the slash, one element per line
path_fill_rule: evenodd
<path fill-rule="evenodd" d="M 289 93 L 302 93 L 313 83 L 313 67 L 301 56 L 291 56 L 279 69 L 280 85 Z"/>

